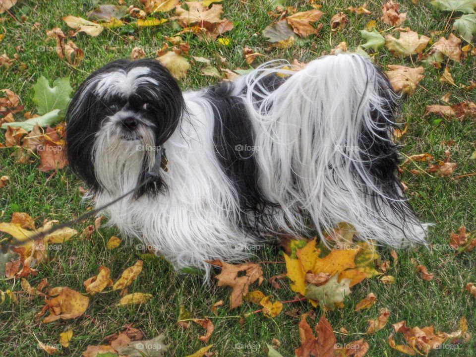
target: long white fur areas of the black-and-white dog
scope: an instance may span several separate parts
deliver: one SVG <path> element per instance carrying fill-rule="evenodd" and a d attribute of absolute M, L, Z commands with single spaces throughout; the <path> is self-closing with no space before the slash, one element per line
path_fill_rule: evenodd
<path fill-rule="evenodd" d="M 291 77 L 275 92 L 266 93 L 258 106 L 253 94 L 257 93 L 259 79 L 276 72 Z M 98 90 L 125 93 L 127 85 L 133 91 L 131 81 L 135 79 L 131 78 L 135 74 L 108 75 Z M 125 77 L 119 79 L 120 76 Z M 236 93 L 245 86 L 248 91 L 243 98 L 259 148 L 256 155 L 261 189 L 281 206 L 273 222 L 277 229 L 305 229 L 298 214 L 301 208 L 309 212 L 316 227 L 331 229 L 339 222 L 348 222 L 362 238 L 393 246 L 424 241 L 425 231 L 420 225 L 403 227 L 409 238 L 406 239 L 396 227 L 382 220 L 383 215 L 397 226 L 402 225 L 390 210 L 376 212 L 359 192 L 359 185 L 364 184 L 381 195 L 382 202 L 386 199 L 366 175 L 358 150 L 347 150 L 347 156 L 339 150 L 340 145 L 358 148 L 360 125 L 375 125 L 370 110 L 383 111 L 375 69 L 369 62 L 358 56 L 324 57 L 297 73 L 282 66 L 265 65 L 240 78 Z M 141 238 L 174 266 L 198 266 L 208 274 L 209 265 L 204 260 L 243 259 L 249 253 L 242 247 L 255 242 L 233 223 L 239 216 L 238 195 L 215 154 L 211 104 L 203 92 L 185 93 L 184 99 L 190 115 L 181 120 L 180 127 L 164 144 L 169 170 L 161 175 L 168 192 L 152 198 L 144 195 L 124 199 L 110 207 L 108 214 L 110 222 L 123 234 Z M 121 142 L 113 129 L 103 129 L 97 134 L 94 160 L 98 179 L 107 190 L 98 195 L 98 206 L 136 185 L 145 154 L 135 146 L 153 145 L 153 139 L 146 134 L 140 141 Z M 148 167 L 152 167 L 155 158 L 147 155 Z M 363 182 L 354 181 L 352 163 Z M 330 164 L 337 168 L 337 180 L 331 177 Z"/>

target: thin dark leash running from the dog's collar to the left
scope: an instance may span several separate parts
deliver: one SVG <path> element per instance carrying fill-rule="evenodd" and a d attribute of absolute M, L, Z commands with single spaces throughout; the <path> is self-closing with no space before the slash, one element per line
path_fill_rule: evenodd
<path fill-rule="evenodd" d="M 111 202 L 99 207 L 99 208 L 95 208 L 91 211 L 88 211 L 86 213 L 84 213 L 83 215 L 79 216 L 78 218 L 76 219 L 73 219 L 73 220 L 70 220 L 70 221 L 67 221 L 67 222 L 63 222 L 63 223 L 60 223 L 59 225 L 56 225 L 56 226 L 53 226 L 51 227 L 50 229 L 46 230 L 46 231 L 43 231 L 43 232 L 39 232 L 37 234 L 35 234 L 34 236 L 31 236 L 31 237 L 28 237 L 26 238 L 25 240 L 18 240 L 16 239 L 16 241 L 10 243 L 9 246 L 12 246 L 12 245 L 15 245 L 15 242 L 24 242 L 26 240 L 37 240 L 37 239 L 40 239 L 40 238 L 44 238 L 45 236 L 48 236 L 60 229 L 63 229 L 63 228 L 67 228 L 67 227 L 71 227 L 73 226 L 74 224 L 80 222 L 80 221 L 83 221 L 91 216 L 95 216 L 97 213 L 105 210 L 106 208 L 108 208 L 109 206 L 112 206 L 113 204 L 119 202 L 120 200 L 124 199 L 125 197 L 127 197 L 128 195 L 134 193 L 136 190 L 138 190 L 139 188 L 141 188 L 142 186 L 146 185 L 147 183 L 149 182 L 156 182 L 160 176 L 159 176 L 159 173 L 160 173 L 160 170 L 164 170 L 164 171 L 168 171 L 168 168 L 167 168 L 167 157 L 165 156 L 165 148 L 163 146 L 160 146 L 158 149 L 157 149 L 157 154 L 155 156 L 155 163 L 154 163 L 154 166 L 152 167 L 152 169 L 150 171 L 148 171 L 146 174 L 145 174 L 145 179 L 143 182 L 137 184 L 134 188 L 132 188 L 131 190 L 127 191 L 126 193 L 124 193 L 123 195 L 119 196 L 118 198 L 112 200 Z"/>

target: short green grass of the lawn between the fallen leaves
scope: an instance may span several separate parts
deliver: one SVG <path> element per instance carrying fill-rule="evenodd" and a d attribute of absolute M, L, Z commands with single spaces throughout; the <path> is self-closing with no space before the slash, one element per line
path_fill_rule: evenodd
<path fill-rule="evenodd" d="M 107 3 L 108 1 L 100 1 Z M 138 1 L 127 1 L 136 4 Z M 403 25 L 410 26 L 420 34 L 431 36 L 432 31 L 443 31 L 445 37 L 451 32 L 446 25 L 449 13 L 434 9 L 426 1 L 400 1 L 401 12 L 408 12 L 408 20 Z M 298 10 L 309 9 L 305 1 L 291 2 Z M 269 6 L 260 0 L 225 0 L 224 16 L 232 20 L 235 28 L 226 34 L 230 38 L 229 46 L 216 42 L 205 43 L 193 35 L 185 34 L 183 38 L 190 44 L 190 54 L 206 58 L 215 58 L 220 54 L 230 69 L 246 68 L 242 56 L 242 48 L 250 47 L 265 54 L 258 58 L 253 65 L 266 60 L 284 58 L 300 61 L 312 60 L 324 51 L 329 52 L 341 41 L 347 41 L 348 47 L 354 49 L 363 43 L 358 30 L 363 29 L 366 22 L 375 19 L 381 29 L 390 28 L 380 22 L 380 2 L 369 1 L 369 9 L 373 13 L 365 15 L 349 15 L 350 24 L 342 31 L 330 32 L 330 17 L 339 10 L 350 6 L 360 5 L 359 1 L 324 1 L 322 10 L 326 13 L 321 22 L 323 28 L 320 37 L 312 36 L 300 40 L 290 49 L 275 49 L 267 52 L 268 44 L 260 36 L 261 30 L 271 23 L 267 15 Z M 10 58 L 15 53 L 15 46 L 20 45 L 20 61 L 27 65 L 26 69 L 14 64 L 11 68 L 1 68 L 0 88 L 9 88 L 22 99 L 25 110 L 34 108 L 31 101 L 32 84 L 40 75 L 50 80 L 60 76 L 70 76 L 71 85 L 77 88 L 79 83 L 94 69 L 111 60 L 128 58 L 135 46 L 144 48 L 146 55 L 154 57 L 157 49 L 161 48 L 165 36 L 172 36 L 177 28 L 172 23 L 160 27 L 132 29 L 119 28 L 104 31 L 100 36 L 92 38 L 78 35 L 74 38 L 76 45 L 83 49 L 83 62 L 73 68 L 60 60 L 55 52 L 45 51 L 47 46 L 53 46 L 46 41 L 46 30 L 61 27 L 64 32 L 67 26 L 61 21 L 68 14 L 83 16 L 93 5 L 85 1 L 51 0 L 29 1 L 18 3 L 11 10 L 17 19 L 25 16 L 24 20 L 15 21 L 6 14 L 1 15 L 2 26 L 6 35 L 0 43 L 1 52 Z M 167 16 L 167 15 L 166 15 Z M 39 22 L 40 30 L 33 28 L 33 23 Z M 256 35 L 255 35 L 256 34 Z M 439 35 L 432 36 L 433 41 Z M 416 58 L 413 59 L 416 62 Z M 386 49 L 381 49 L 375 56 L 375 62 L 385 67 L 386 64 L 412 65 L 409 58 L 397 59 Z M 419 65 L 419 62 L 417 62 Z M 449 63 L 456 83 L 467 84 L 475 79 L 475 57 L 469 57 L 462 63 Z M 183 89 L 198 88 L 217 82 L 217 79 L 200 74 L 201 66 L 192 66 L 187 77 L 180 82 Z M 451 147 L 452 160 L 458 163 L 455 175 L 463 175 L 476 171 L 476 164 L 469 160 L 475 149 L 475 122 L 466 120 L 443 120 L 434 123 L 431 117 L 424 117 L 425 106 L 439 103 L 439 98 L 447 91 L 453 93 L 452 101 L 459 103 L 474 98 L 474 91 L 467 92 L 448 84 L 441 84 L 438 78 L 442 69 L 425 68 L 425 78 L 420 82 L 416 93 L 409 97 L 403 106 L 402 120 L 409 123 L 409 131 L 403 137 L 403 153 L 412 155 L 429 152 L 436 159 L 444 158 L 444 147 L 441 141 L 454 139 Z M 19 118 L 20 115 L 17 115 Z M 3 134 L 1 134 L 3 135 Z M 0 141 L 4 141 L 0 136 Z M 86 205 L 81 204 L 79 187 L 84 185 L 67 168 L 53 176 L 37 170 L 38 162 L 31 165 L 20 165 L 10 156 L 14 149 L 2 149 L 0 152 L 0 175 L 10 178 L 9 185 L 0 188 L 1 221 L 9 221 L 13 212 L 27 212 L 37 223 L 44 219 L 60 221 L 76 217 L 85 211 Z M 456 232 L 461 225 L 475 230 L 476 217 L 476 176 L 462 179 L 430 177 L 428 175 L 414 176 L 409 172 L 403 174 L 407 183 L 411 204 L 423 221 L 434 223 L 430 229 L 429 239 L 434 247 L 416 247 L 399 251 L 399 264 L 392 271 L 396 277 L 395 285 L 383 285 L 377 278 L 365 280 L 353 289 L 346 300 L 345 307 L 326 314 L 330 323 L 337 331 L 345 327 L 349 336 L 338 334 L 339 342 L 354 341 L 365 331 L 366 320 L 375 318 L 378 309 L 388 307 L 391 310 L 389 323 L 407 320 L 409 326 L 434 325 L 437 331 L 450 332 L 458 328 L 459 319 L 465 315 L 470 331 L 476 332 L 476 299 L 464 290 L 467 282 L 475 279 L 475 253 L 456 256 L 447 248 L 449 235 Z M 91 222 L 84 222 L 75 227 L 82 230 Z M 111 268 L 114 277 L 132 265 L 138 255 L 137 241 L 122 242 L 115 250 L 106 249 L 106 242 L 112 235 L 118 235 L 115 229 L 100 229 L 90 240 L 71 239 L 60 246 L 57 251 L 50 251 L 51 260 L 39 267 L 37 277 L 29 278 L 32 286 L 36 286 L 43 278 L 47 278 L 50 286 L 67 286 L 83 291 L 82 282 L 96 275 L 100 265 Z M 1 238 L 1 237 L 0 237 Z M 389 250 L 381 248 L 384 258 L 389 258 Z M 425 265 L 428 271 L 435 273 L 435 278 L 424 281 L 414 271 L 410 259 L 416 259 Z M 268 246 L 258 251 L 255 261 L 280 260 L 280 249 Z M 264 276 L 269 278 L 285 271 L 283 264 L 263 264 Z M 18 281 L 0 280 L 0 290 L 11 289 L 21 291 Z M 288 286 L 275 290 L 265 282 L 261 289 L 266 295 L 273 295 L 277 300 L 289 300 L 294 297 Z M 146 261 L 144 270 L 129 292 L 144 292 L 153 295 L 146 304 L 131 307 L 116 307 L 119 296 L 117 293 L 99 294 L 91 298 L 87 315 L 73 320 L 61 320 L 50 324 L 35 322 L 34 314 L 43 303 L 37 298 L 29 301 L 20 298 L 18 303 L 10 303 L 8 299 L 0 305 L 0 355 L 1 356 L 45 356 L 37 349 L 36 336 L 40 341 L 58 345 L 59 334 L 68 328 L 74 331 L 73 340 L 67 349 L 62 350 L 63 356 L 79 356 L 86 350 L 87 345 L 102 344 L 105 336 L 118 332 L 119 327 L 133 323 L 142 329 L 146 338 L 152 338 L 164 332 L 170 346 L 170 356 L 186 356 L 203 347 L 197 339 L 203 329 L 191 326 L 183 330 L 176 325 L 179 306 L 190 311 L 192 317 L 202 318 L 212 315 L 210 307 L 218 300 L 228 300 L 229 290 L 217 288 L 215 284 L 202 285 L 196 276 L 182 275 L 174 271 L 162 259 Z M 354 306 L 361 298 L 373 292 L 378 302 L 368 310 L 354 312 Z M 286 315 L 284 312 L 298 309 L 307 312 L 310 305 L 305 302 L 286 304 L 283 313 L 275 319 L 267 319 L 261 314 L 248 317 L 244 324 L 238 323 L 238 318 L 231 317 L 244 312 L 253 311 L 256 306 L 244 303 L 234 311 L 219 308 L 219 317 L 213 319 L 215 332 L 210 340 L 214 347 L 212 351 L 219 356 L 243 357 L 266 356 L 265 343 L 273 338 L 281 342 L 279 348 L 283 356 L 294 356 L 294 349 L 299 346 L 297 329 L 298 318 Z M 316 314 L 320 315 L 317 309 Z M 367 356 L 387 357 L 399 356 L 387 344 L 391 332 L 388 325 L 372 336 L 365 336 L 370 345 Z M 474 339 L 467 345 L 452 346 L 452 349 L 441 349 L 431 352 L 434 356 L 467 357 L 476 353 Z"/>

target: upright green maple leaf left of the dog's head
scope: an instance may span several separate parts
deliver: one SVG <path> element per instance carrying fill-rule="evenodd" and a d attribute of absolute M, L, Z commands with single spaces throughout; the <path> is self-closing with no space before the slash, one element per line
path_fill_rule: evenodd
<path fill-rule="evenodd" d="M 33 91 L 35 92 L 33 103 L 36 104 L 39 115 L 59 109 L 60 118 L 64 117 L 64 111 L 70 100 L 69 96 L 73 91 L 69 85 L 69 77 L 57 78 L 52 88 L 48 79 L 41 76 L 33 85 Z"/>

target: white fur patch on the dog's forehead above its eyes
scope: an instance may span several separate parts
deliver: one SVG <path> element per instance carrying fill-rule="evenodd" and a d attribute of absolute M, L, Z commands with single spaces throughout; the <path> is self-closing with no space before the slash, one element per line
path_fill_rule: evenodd
<path fill-rule="evenodd" d="M 159 84 L 155 79 L 145 76 L 149 72 L 150 68 L 148 67 L 134 67 L 128 72 L 119 70 L 100 74 L 94 91 L 103 98 L 113 95 L 128 97 L 140 85 Z"/>

